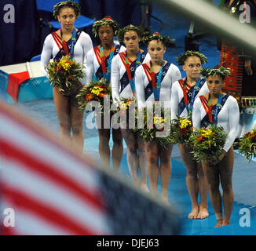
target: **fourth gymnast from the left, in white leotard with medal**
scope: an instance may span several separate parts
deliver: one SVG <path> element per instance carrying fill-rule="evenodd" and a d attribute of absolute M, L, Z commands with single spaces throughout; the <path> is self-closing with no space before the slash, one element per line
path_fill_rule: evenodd
<path fill-rule="evenodd" d="M 171 86 L 181 78 L 181 72 L 174 64 L 163 59 L 166 53 L 167 37 L 154 33 L 148 38 L 148 53 L 151 60 L 137 68 L 135 73 L 135 89 L 138 108 L 153 107 L 153 104 L 161 102 L 170 108 Z M 168 187 L 170 183 L 171 162 L 170 155 L 173 148 L 169 144 L 166 149 L 160 147 L 155 140 L 145 142 L 148 159 L 148 180 L 152 194 L 158 197 L 158 180 L 161 178 L 161 199 L 169 204 Z M 160 166 L 159 166 L 160 159 Z"/>

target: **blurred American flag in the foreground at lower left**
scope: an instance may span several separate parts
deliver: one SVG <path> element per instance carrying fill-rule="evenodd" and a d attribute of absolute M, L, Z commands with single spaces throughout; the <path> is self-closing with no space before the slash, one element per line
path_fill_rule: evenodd
<path fill-rule="evenodd" d="M 177 213 L 0 102 L 0 235 L 177 235 Z"/>

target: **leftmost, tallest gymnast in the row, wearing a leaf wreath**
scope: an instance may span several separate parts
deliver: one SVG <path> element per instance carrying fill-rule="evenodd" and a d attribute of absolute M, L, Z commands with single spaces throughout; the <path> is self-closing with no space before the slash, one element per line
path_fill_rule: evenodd
<path fill-rule="evenodd" d="M 60 30 L 46 37 L 41 54 L 41 70 L 47 77 L 46 66 L 51 56 L 59 61 L 62 56 L 70 55 L 76 63 L 83 64 L 86 54 L 93 48 L 89 35 L 75 28 L 75 19 L 80 15 L 79 5 L 72 1 L 62 1 L 54 5 L 53 16 L 60 22 Z M 83 151 L 83 111 L 79 111 L 76 94 L 82 88 L 85 79 L 81 79 L 78 88 L 61 93 L 53 85 L 53 100 L 60 125 L 60 138 L 71 141 L 79 151 Z"/>

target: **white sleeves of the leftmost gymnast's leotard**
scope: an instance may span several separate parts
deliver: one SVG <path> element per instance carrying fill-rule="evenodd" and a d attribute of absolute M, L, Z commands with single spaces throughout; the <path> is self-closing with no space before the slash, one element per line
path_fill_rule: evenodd
<path fill-rule="evenodd" d="M 86 54 L 90 49 L 93 48 L 93 42 L 88 34 L 84 31 L 80 31 L 81 34 L 79 36 L 78 41 L 75 43 L 74 48 L 74 59 L 76 63 L 83 64 L 86 59 Z M 61 38 L 60 38 L 61 39 Z M 62 47 L 62 46 L 61 46 Z M 53 56 L 53 58 L 59 53 L 60 49 L 57 42 L 53 38 L 53 34 L 49 34 L 46 37 L 46 40 L 43 45 L 42 54 L 41 54 L 41 70 L 44 75 L 47 76 L 47 72 L 45 66 L 49 64 L 49 60 Z M 84 70 L 86 72 L 86 70 Z M 85 78 L 82 79 L 82 84 L 84 84 Z"/>

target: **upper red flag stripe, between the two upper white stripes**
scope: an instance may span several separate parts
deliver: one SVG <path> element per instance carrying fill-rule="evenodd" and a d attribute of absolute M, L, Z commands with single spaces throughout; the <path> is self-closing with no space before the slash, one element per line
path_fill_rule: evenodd
<path fill-rule="evenodd" d="M 52 166 L 49 166 L 31 155 L 27 155 L 24 151 L 14 147 L 14 145 L 9 144 L 5 140 L 1 140 L 0 144 L 1 154 L 3 156 L 5 155 L 6 158 L 16 159 L 17 162 L 23 164 L 23 168 L 27 168 L 41 176 L 46 176 L 47 179 L 53 180 L 54 183 L 60 184 L 65 187 L 65 189 L 69 189 L 69 191 L 79 195 L 79 198 L 86 204 L 89 202 L 96 209 L 104 210 L 103 202 L 101 202 L 101 198 L 94 188 L 94 193 L 92 191 L 86 191 L 86 188 L 81 187 L 74 180 L 71 180 L 71 176 L 64 176 L 57 170 L 54 170 Z"/>

